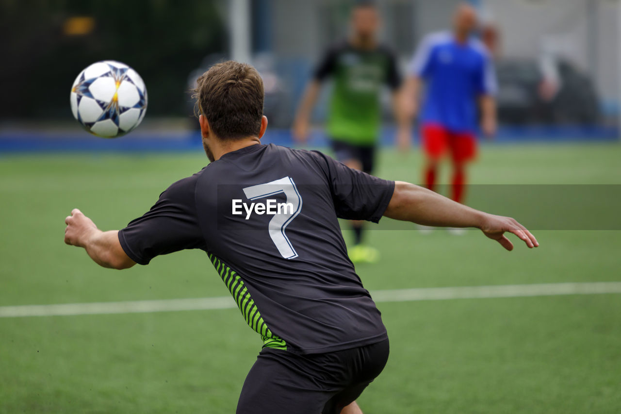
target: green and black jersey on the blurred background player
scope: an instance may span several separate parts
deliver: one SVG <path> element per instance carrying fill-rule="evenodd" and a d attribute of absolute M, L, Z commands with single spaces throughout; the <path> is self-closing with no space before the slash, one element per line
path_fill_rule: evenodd
<path fill-rule="evenodd" d="M 315 68 L 315 80 L 329 76 L 334 89 L 328 135 L 353 145 L 375 144 L 381 122 L 381 89 L 388 85 L 396 90 L 401 84 L 394 53 L 383 45 L 361 49 L 342 42 L 330 48 Z"/>

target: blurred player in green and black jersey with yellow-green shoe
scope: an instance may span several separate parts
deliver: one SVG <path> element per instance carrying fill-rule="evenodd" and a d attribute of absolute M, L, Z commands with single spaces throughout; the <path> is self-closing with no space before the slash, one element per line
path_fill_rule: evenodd
<path fill-rule="evenodd" d="M 373 2 L 360 1 L 351 12 L 353 34 L 331 47 L 315 68 L 313 80 L 306 88 L 293 126 L 294 138 L 306 142 L 309 118 L 317 101 L 321 84 L 332 78 L 327 134 L 337 159 L 345 165 L 372 173 L 375 148 L 381 124 L 380 92 L 384 85 L 392 90 L 394 109 L 399 121 L 399 135 L 409 136 L 407 115 L 399 113 L 397 96 L 401 76 L 394 54 L 378 43 L 379 14 Z M 375 262 L 376 249 L 363 244 L 363 223 L 352 221 L 354 262 Z"/>

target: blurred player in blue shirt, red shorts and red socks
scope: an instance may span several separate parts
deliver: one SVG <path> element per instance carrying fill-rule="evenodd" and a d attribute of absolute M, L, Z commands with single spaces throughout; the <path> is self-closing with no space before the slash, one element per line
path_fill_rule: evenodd
<path fill-rule="evenodd" d="M 496 132 L 496 75 L 486 47 L 473 37 L 476 24 L 474 8 L 458 6 L 452 32 L 430 34 L 422 40 L 410 63 L 404 91 L 406 107 L 415 115 L 421 84 L 426 83 L 420 114 L 424 182 L 433 190 L 438 163 L 449 153 L 451 198 L 458 203 L 463 201 L 466 165 L 476 155 L 479 106 L 483 133 L 492 137 Z"/>

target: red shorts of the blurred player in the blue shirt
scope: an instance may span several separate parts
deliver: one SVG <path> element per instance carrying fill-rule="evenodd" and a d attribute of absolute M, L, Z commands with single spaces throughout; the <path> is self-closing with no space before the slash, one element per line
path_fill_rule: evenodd
<path fill-rule="evenodd" d="M 450 150 L 455 162 L 466 162 L 476 156 L 476 139 L 470 132 L 450 132 L 438 124 L 422 127 L 422 145 L 432 159 L 440 159 Z"/>

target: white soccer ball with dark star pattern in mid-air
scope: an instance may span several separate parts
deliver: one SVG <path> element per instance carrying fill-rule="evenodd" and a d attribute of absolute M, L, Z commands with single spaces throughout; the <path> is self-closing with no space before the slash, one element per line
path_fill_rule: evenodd
<path fill-rule="evenodd" d="M 71 88 L 71 111 L 86 131 L 116 138 L 137 127 L 147 112 L 147 88 L 137 71 L 104 60 L 80 72 Z"/>

